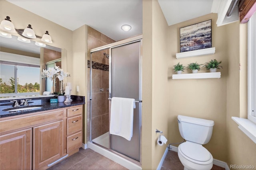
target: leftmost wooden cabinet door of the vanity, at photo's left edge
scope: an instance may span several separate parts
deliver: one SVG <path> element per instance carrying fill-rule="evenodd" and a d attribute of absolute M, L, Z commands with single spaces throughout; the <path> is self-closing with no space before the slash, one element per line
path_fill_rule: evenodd
<path fill-rule="evenodd" d="M 0 170 L 31 169 L 31 137 L 31 129 L 0 136 Z"/>

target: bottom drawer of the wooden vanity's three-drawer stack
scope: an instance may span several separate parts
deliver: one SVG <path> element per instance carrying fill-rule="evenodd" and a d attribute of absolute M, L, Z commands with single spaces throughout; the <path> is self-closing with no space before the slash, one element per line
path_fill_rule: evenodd
<path fill-rule="evenodd" d="M 82 132 L 67 137 L 67 153 L 82 146 Z"/>

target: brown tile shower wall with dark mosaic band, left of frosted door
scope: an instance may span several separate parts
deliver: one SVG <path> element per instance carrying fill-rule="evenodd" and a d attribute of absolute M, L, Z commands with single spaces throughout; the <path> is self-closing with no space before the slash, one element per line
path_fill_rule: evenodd
<path fill-rule="evenodd" d="M 88 26 L 87 35 L 88 51 L 96 47 L 101 47 L 114 43 L 106 35 Z M 109 54 L 108 50 L 92 53 L 92 139 L 108 132 L 108 65 L 109 60 L 103 53 Z M 90 53 L 88 52 L 88 82 L 90 82 Z M 104 89 L 100 91 L 100 89 Z M 90 86 L 87 90 L 87 141 L 90 136 Z"/>

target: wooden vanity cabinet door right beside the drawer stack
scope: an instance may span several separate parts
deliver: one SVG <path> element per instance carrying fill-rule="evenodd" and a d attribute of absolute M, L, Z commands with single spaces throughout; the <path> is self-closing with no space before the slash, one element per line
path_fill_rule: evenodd
<path fill-rule="evenodd" d="M 63 120 L 33 128 L 33 169 L 50 164 L 63 155 Z"/>

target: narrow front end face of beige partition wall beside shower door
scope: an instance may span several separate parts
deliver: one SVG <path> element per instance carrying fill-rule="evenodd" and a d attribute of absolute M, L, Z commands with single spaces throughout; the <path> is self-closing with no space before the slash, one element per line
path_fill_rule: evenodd
<path fill-rule="evenodd" d="M 152 169 L 152 2 L 143 1 L 142 169 Z"/>

